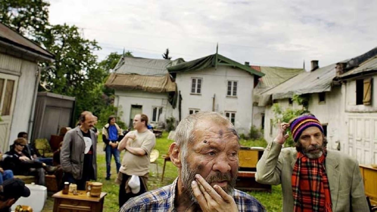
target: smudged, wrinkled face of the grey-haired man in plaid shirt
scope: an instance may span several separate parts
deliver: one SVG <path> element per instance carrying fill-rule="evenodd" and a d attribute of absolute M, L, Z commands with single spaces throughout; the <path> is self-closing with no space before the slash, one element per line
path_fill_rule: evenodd
<path fill-rule="evenodd" d="M 187 144 L 186 158 L 182 158 L 181 177 L 184 189 L 195 198 L 191 182 L 200 174 L 211 186 L 221 186 L 232 194 L 238 172 L 239 143 L 230 125 L 212 120 L 199 120 L 193 131 L 195 139 Z"/>

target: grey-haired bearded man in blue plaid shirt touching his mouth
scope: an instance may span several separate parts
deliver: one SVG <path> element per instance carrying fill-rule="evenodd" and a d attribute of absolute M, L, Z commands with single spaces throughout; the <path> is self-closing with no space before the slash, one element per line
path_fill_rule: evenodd
<path fill-rule="evenodd" d="M 120 211 L 265 211 L 259 201 L 234 189 L 238 173 L 239 135 L 215 112 L 184 118 L 169 147 L 178 167 L 173 184 L 131 198 Z"/>

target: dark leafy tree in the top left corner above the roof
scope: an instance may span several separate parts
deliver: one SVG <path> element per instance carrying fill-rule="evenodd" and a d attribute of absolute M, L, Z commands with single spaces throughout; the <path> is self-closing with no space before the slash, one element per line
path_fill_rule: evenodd
<path fill-rule="evenodd" d="M 39 40 L 48 25 L 48 7 L 43 0 L 1 0 L 0 22 L 20 34 Z"/>

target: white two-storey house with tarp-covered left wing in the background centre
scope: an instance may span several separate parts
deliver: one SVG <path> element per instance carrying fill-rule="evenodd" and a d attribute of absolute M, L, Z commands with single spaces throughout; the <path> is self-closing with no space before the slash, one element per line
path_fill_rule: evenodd
<path fill-rule="evenodd" d="M 239 133 L 249 132 L 254 77 L 257 79 L 263 73 L 220 54 L 188 62 L 182 59 L 123 60 L 106 85 L 115 88 L 115 106 L 121 107 L 122 120 L 127 124 L 139 112 L 155 123 L 170 117 L 179 121 L 198 111 L 216 111 L 228 117 Z M 151 85 L 152 81 L 156 83 Z"/>

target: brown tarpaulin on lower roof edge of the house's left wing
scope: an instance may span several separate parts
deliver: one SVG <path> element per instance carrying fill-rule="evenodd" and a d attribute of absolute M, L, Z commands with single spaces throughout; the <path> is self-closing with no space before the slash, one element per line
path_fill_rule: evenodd
<path fill-rule="evenodd" d="M 142 90 L 155 93 L 176 91 L 176 83 L 170 79 L 169 74 L 160 77 L 112 73 L 106 80 L 106 86 L 120 90 Z"/>

